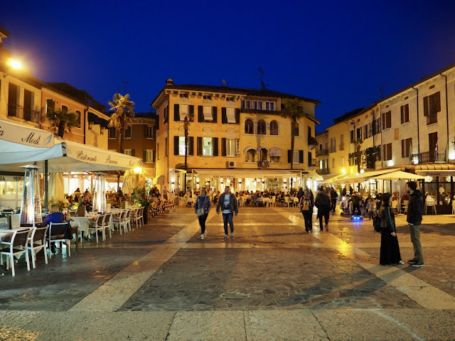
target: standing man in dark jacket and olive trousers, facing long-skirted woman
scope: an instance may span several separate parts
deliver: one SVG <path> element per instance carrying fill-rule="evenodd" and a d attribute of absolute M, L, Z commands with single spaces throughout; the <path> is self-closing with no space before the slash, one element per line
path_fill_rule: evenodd
<path fill-rule="evenodd" d="M 410 191 L 410 201 L 407 204 L 407 223 L 410 226 L 411 242 L 414 247 L 414 258 L 408 263 L 414 267 L 424 266 L 422 245 L 420 244 L 420 225 L 422 224 L 422 192 L 417 190 L 417 183 L 407 183 Z"/>

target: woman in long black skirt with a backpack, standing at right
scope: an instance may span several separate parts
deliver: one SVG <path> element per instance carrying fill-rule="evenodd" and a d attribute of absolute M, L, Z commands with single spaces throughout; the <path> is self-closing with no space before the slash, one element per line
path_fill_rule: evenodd
<path fill-rule="evenodd" d="M 392 210 L 390 210 L 390 193 L 384 193 L 381 200 L 382 205 L 379 213 L 381 218 L 381 248 L 379 264 L 404 264 L 401 260 L 400 246 L 398 245 L 395 215 Z"/>

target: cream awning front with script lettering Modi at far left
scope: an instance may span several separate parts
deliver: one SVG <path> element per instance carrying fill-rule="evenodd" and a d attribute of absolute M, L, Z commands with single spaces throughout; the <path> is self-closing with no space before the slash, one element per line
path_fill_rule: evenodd
<path fill-rule="evenodd" d="M 54 146 L 54 134 L 50 131 L 0 119 L 0 141 L 2 142 L 2 149 L 6 149 L 7 146 L 3 142 L 12 142 L 34 148 L 50 148 Z"/>

